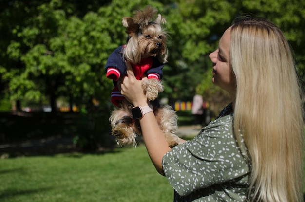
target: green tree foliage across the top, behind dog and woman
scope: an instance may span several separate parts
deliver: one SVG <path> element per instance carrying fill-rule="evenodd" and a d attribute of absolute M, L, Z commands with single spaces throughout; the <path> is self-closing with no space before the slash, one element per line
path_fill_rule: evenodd
<path fill-rule="evenodd" d="M 206 100 L 227 99 L 210 82 L 208 55 L 233 19 L 249 13 L 284 30 L 305 86 L 305 1 L 0 0 L 0 4 L 0 99 L 48 100 L 56 110 L 57 99 L 63 97 L 70 105 L 85 106 L 88 114 L 98 109 L 98 122 L 105 123 L 104 128 L 113 88 L 105 76 L 105 63 L 125 43 L 121 19 L 148 4 L 167 19 L 170 57 L 160 96 L 169 98 L 170 104 L 191 100 L 196 91 Z M 87 116 L 92 130 L 98 125 L 96 117 Z"/>

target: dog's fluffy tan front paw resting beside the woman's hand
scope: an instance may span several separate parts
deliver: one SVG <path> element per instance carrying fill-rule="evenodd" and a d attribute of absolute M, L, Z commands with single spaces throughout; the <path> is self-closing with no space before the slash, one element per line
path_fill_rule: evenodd
<path fill-rule="evenodd" d="M 158 97 L 159 92 L 164 90 L 161 82 L 154 78 L 143 81 L 142 88 L 144 89 L 148 100 L 155 100 Z"/>

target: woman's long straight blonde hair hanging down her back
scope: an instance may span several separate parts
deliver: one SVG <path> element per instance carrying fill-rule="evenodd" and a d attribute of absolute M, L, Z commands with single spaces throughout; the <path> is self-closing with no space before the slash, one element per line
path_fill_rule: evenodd
<path fill-rule="evenodd" d="M 232 26 L 230 56 L 234 132 L 248 149 L 250 201 L 303 202 L 304 123 L 290 46 L 271 22 L 243 18 Z"/>

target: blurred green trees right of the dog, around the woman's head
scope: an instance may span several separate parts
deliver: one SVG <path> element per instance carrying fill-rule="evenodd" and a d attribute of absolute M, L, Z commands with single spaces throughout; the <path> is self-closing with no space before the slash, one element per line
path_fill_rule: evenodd
<path fill-rule="evenodd" d="M 181 0 L 166 7 L 167 28 L 172 33 L 171 57 L 165 68 L 166 91 L 173 99 L 191 100 L 195 89 L 211 96 L 211 62 L 208 54 L 217 48 L 222 33 L 241 15 L 267 18 L 283 29 L 296 58 L 305 87 L 305 2 L 299 0 Z M 206 75 L 210 75 L 206 76 Z M 202 78 L 198 80 L 197 78 Z M 204 81 L 204 79 L 208 79 Z M 209 85 L 204 85 L 209 83 Z M 203 88 L 206 87 L 206 88 Z M 216 88 L 217 89 L 217 88 Z M 218 91 L 217 91 L 218 92 Z M 219 94 L 215 93 L 216 96 Z M 207 97 L 207 99 L 209 99 Z M 216 99 L 216 97 L 215 97 Z"/>

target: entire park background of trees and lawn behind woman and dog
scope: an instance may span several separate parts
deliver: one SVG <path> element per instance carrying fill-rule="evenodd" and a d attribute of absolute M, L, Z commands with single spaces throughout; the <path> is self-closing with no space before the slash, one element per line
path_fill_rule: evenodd
<path fill-rule="evenodd" d="M 208 55 L 241 15 L 284 31 L 304 92 L 302 0 L 0 0 L 0 201 L 172 201 L 145 148 L 117 147 L 108 121 L 104 66 L 126 42 L 121 19 L 146 5 L 167 19 L 159 98 L 177 110 L 179 127 L 191 125 L 196 93 L 214 114 L 230 102 L 211 83 Z"/>

